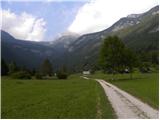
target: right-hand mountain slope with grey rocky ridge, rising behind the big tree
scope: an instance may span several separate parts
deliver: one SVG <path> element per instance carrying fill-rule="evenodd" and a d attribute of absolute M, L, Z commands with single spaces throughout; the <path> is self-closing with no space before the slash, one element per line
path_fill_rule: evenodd
<path fill-rule="evenodd" d="M 110 35 L 119 36 L 126 46 L 137 52 L 158 51 L 159 6 L 121 18 L 106 30 L 79 37 L 68 48 L 71 58 L 74 58 L 71 66 L 95 64 L 103 38 Z"/>

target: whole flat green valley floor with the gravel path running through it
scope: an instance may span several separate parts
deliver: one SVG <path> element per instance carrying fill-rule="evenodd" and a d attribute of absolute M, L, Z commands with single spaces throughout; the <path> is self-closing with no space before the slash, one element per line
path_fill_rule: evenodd
<path fill-rule="evenodd" d="M 87 79 L 88 77 L 91 79 Z M 56 78 L 53 80 L 13 80 L 10 77 L 2 77 L 1 117 L 157 118 L 158 73 L 134 73 L 132 80 L 129 74 L 117 74 L 114 76 L 114 80 L 111 79 L 112 77 L 110 74 L 100 72 L 86 76 L 87 80 L 79 75 L 72 75 L 68 80 L 57 80 Z M 106 82 L 98 80 L 99 84 L 94 80 L 95 78 L 106 80 Z M 108 85 L 110 83 L 112 85 Z M 154 110 L 145 107 L 151 112 L 149 115 L 148 113 L 144 114 L 144 110 L 139 110 L 137 105 L 124 97 L 122 92 L 115 92 L 113 85 L 151 105 Z M 116 95 L 117 98 L 111 100 L 108 95 L 105 95 L 107 92 L 111 93 L 109 93 L 111 97 Z M 123 111 L 123 114 L 120 113 L 122 115 L 120 117 L 115 106 L 111 105 L 112 102 L 110 103 L 109 100 L 120 100 L 121 103 L 116 102 L 118 109 L 127 110 L 128 113 Z M 133 111 L 137 112 L 132 113 L 129 106 L 134 107 Z"/>

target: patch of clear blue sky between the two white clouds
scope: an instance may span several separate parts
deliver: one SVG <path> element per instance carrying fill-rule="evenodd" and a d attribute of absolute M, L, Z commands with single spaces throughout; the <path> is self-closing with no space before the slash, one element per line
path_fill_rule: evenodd
<path fill-rule="evenodd" d="M 53 40 L 59 33 L 67 31 L 73 22 L 77 11 L 84 5 L 84 1 L 65 2 L 2 2 L 3 10 L 10 10 L 16 15 L 22 12 L 31 14 L 36 18 L 43 18 L 46 22 L 45 40 Z"/>

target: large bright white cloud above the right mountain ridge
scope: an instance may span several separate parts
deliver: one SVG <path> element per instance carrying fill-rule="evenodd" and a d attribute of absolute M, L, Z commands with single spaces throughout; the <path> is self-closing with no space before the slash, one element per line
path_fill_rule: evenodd
<path fill-rule="evenodd" d="M 91 0 L 80 8 L 68 30 L 80 34 L 100 31 L 121 17 L 145 12 L 157 4 L 156 0 Z"/>

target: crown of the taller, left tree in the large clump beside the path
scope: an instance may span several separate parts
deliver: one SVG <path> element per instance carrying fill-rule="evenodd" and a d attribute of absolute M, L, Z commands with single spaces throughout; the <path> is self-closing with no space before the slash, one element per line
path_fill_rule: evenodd
<path fill-rule="evenodd" d="M 118 37 L 107 37 L 104 39 L 104 43 L 101 46 L 99 63 L 102 69 L 111 70 L 112 73 L 121 64 L 122 51 L 124 44 Z"/>

